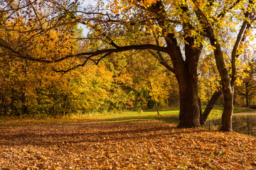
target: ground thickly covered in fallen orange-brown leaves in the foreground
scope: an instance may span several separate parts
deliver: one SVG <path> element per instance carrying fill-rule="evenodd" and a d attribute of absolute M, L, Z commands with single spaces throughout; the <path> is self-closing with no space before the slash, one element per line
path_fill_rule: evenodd
<path fill-rule="evenodd" d="M 256 169 L 256 137 L 162 121 L 0 126 L 1 169 Z"/>

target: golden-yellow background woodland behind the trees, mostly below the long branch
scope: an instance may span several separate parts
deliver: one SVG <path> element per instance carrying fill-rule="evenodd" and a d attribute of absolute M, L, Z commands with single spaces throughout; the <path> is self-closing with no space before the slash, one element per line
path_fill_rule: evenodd
<path fill-rule="evenodd" d="M 82 30 L 75 28 L 75 33 L 82 33 Z M 60 38 L 63 36 L 68 38 L 62 42 Z M 38 40 L 40 43 L 31 52 L 46 57 L 97 47 L 97 43 L 88 44 L 87 40 L 78 43 L 72 37 L 75 38 L 74 30 L 66 35 L 53 33 L 47 40 Z M 59 46 L 60 50 L 55 50 L 54 42 L 57 41 L 58 44 L 64 43 Z M 72 45 L 65 47 L 65 44 Z M 123 52 L 107 57 L 99 64 L 88 62 L 69 72 L 57 70 L 72 66 L 79 62 L 78 59 L 44 64 L 11 56 L 1 57 L 0 114 L 56 116 L 153 110 L 156 106 L 178 108 L 176 77 L 152 55 L 148 51 Z M 242 69 L 240 81 L 236 84 L 235 104 L 254 107 L 255 64 L 248 60 L 248 56 L 243 58 L 242 63 L 247 67 L 243 66 L 246 69 Z M 199 95 L 202 104 L 206 105 L 215 89 L 219 88 L 220 78 L 212 56 L 205 55 L 198 68 Z M 220 97 L 216 104 L 222 105 L 223 98 Z"/>

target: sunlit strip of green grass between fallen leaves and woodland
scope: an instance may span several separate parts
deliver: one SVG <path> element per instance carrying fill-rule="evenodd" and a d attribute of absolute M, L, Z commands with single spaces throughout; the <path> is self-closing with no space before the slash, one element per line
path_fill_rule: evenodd
<path fill-rule="evenodd" d="M 202 108 L 205 108 L 203 106 Z M 234 113 L 256 111 L 251 108 L 235 107 Z M 83 122 L 120 122 L 120 121 L 142 121 L 142 120 L 161 120 L 166 123 L 178 123 L 178 110 L 159 111 L 126 111 L 119 113 L 89 113 L 89 114 L 73 114 L 65 115 L 58 118 L 32 118 L 25 115 L 20 117 L 0 117 L 0 124 L 6 123 L 83 123 Z M 215 120 L 221 118 L 223 107 L 217 106 L 212 109 L 207 120 Z"/>

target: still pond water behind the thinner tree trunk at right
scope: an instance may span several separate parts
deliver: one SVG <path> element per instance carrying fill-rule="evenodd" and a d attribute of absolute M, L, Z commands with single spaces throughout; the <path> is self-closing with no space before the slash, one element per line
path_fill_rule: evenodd
<path fill-rule="evenodd" d="M 209 120 L 204 125 L 210 130 L 220 129 L 221 118 Z M 233 130 L 247 135 L 256 136 L 256 113 L 235 113 L 233 114 Z"/>

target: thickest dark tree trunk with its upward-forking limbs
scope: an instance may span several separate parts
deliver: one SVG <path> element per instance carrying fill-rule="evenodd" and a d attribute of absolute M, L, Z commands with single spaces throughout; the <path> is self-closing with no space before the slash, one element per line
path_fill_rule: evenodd
<path fill-rule="evenodd" d="M 166 11 L 162 1 L 156 1 L 149 8 L 151 13 L 156 14 L 156 19 L 161 28 L 166 28 Z M 186 13 L 188 6 L 183 5 L 182 10 Z M 173 69 L 166 67 L 167 63 L 164 57 L 157 57 L 159 62 L 163 64 L 171 72 L 174 72 L 176 79 L 178 80 L 179 94 L 180 94 L 180 113 L 178 128 L 193 128 L 200 126 L 200 107 L 198 100 L 198 59 L 201 55 L 203 45 L 196 47 L 196 40 L 193 37 L 189 37 L 191 28 L 190 23 L 186 21 L 183 23 L 183 30 L 188 36 L 184 38 L 185 43 L 185 56 L 178 44 L 178 40 L 174 33 L 168 33 L 167 30 L 163 29 L 164 38 L 166 40 L 166 47 L 169 49 L 167 52 L 171 57 Z"/>

